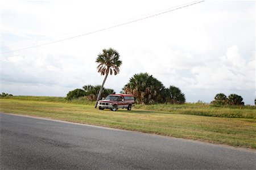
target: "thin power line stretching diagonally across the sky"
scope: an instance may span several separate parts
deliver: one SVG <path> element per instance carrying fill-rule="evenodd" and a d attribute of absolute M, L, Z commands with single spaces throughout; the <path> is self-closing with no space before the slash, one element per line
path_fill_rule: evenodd
<path fill-rule="evenodd" d="M 205 1 L 205 0 L 204 0 L 204 1 Z M 56 41 L 47 42 L 47 43 L 44 43 L 44 44 L 39 44 L 39 45 L 34 45 L 34 46 L 28 46 L 28 47 L 26 47 L 26 48 L 21 48 L 21 49 L 16 49 L 16 50 L 10 50 L 10 51 L 7 51 L 7 52 L 2 52 L 1 54 L 16 52 L 16 51 L 25 50 L 25 49 L 30 49 L 30 48 L 36 48 L 36 47 L 38 47 L 38 46 L 43 46 L 43 45 L 48 45 L 48 44 L 54 44 L 54 43 L 56 43 L 56 42 L 71 40 L 71 39 L 75 39 L 75 38 L 77 38 L 77 37 L 90 35 L 90 34 L 93 34 L 93 33 L 105 31 L 105 30 L 108 30 L 108 29 L 116 28 L 116 27 L 121 27 L 122 25 L 127 25 L 127 24 L 131 24 L 131 23 L 139 22 L 139 21 L 141 21 L 141 20 L 148 19 L 148 18 L 152 18 L 152 17 L 154 17 L 154 16 L 166 14 L 167 12 L 172 12 L 172 11 L 179 10 L 179 9 L 181 9 L 181 8 L 185 8 L 185 7 L 188 7 L 188 6 L 196 5 L 197 3 L 201 3 L 201 2 L 204 2 L 204 1 L 189 3 L 188 5 L 186 4 L 186 5 L 183 5 L 183 6 L 174 8 L 174 9 L 172 9 L 172 10 L 167 10 L 167 11 L 164 11 L 164 12 L 159 12 L 158 14 L 146 16 L 146 17 L 140 18 L 140 19 L 135 19 L 135 20 L 132 20 L 132 21 L 130 21 L 130 22 L 126 22 L 126 23 L 122 23 L 122 24 L 117 24 L 117 25 L 114 25 L 114 26 L 111 26 L 111 27 L 106 27 L 106 28 L 98 29 L 98 30 L 96 30 L 96 31 L 84 33 L 84 34 L 81 34 L 81 35 L 77 35 L 77 36 L 73 36 L 73 37 L 68 37 L 68 38 L 66 38 L 66 39 L 56 40 Z"/>

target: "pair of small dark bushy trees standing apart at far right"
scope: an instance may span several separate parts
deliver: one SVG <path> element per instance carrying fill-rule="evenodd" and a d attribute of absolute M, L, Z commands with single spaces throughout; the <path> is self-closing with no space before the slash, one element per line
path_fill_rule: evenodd
<path fill-rule="evenodd" d="M 211 103 L 218 105 L 245 105 L 243 98 L 236 94 L 230 94 L 229 97 L 224 94 L 217 94 Z"/>

